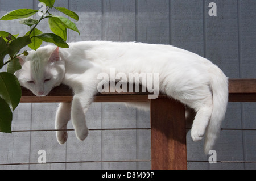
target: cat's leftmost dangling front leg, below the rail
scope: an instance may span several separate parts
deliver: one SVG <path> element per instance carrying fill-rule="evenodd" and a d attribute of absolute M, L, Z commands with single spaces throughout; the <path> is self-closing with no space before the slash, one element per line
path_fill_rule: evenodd
<path fill-rule="evenodd" d="M 64 144 L 68 139 L 66 131 L 68 121 L 71 119 L 71 103 L 60 103 L 56 113 L 55 129 L 62 129 L 63 131 L 56 131 L 56 137 L 59 144 Z"/>

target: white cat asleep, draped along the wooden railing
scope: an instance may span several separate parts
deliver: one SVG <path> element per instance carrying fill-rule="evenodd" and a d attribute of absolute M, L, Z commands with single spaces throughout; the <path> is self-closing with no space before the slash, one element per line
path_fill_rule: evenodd
<path fill-rule="evenodd" d="M 66 129 L 71 119 L 77 138 L 87 137 L 85 113 L 102 81 L 97 79 L 99 73 L 109 74 L 113 68 L 126 75 L 159 73 L 159 91 L 197 112 L 191 130 L 193 141 L 205 134 L 204 151 L 208 154 L 212 149 L 226 112 L 228 78 L 209 60 L 171 45 L 110 41 L 69 43 L 69 48 L 47 45 L 28 53 L 19 57 L 22 69 L 15 75 L 20 85 L 36 96 L 47 95 L 60 83 L 73 90 L 72 103 L 60 103 L 56 129 Z M 59 143 L 64 144 L 67 132 L 56 133 Z"/>

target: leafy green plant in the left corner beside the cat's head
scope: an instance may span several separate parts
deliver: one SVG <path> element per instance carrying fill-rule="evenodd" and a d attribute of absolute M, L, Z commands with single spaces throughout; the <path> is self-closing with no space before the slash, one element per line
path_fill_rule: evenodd
<path fill-rule="evenodd" d="M 39 0 L 47 7 L 46 12 L 32 9 L 18 9 L 7 12 L 0 20 L 20 19 L 19 23 L 24 24 L 30 30 L 24 35 L 13 35 L 6 31 L 0 31 L 0 69 L 7 65 L 7 72 L 0 73 L 0 132 L 11 133 L 11 121 L 13 119 L 13 111 L 18 106 L 22 96 L 18 79 L 13 75 L 15 71 L 21 69 L 19 63 L 20 55 L 27 56 L 28 52 L 20 53 L 20 50 L 26 46 L 31 49 L 38 49 L 43 41 L 54 43 L 58 47 L 68 48 L 67 29 L 80 32 L 68 18 L 64 16 L 52 15 L 49 10 L 56 9 L 63 14 L 79 20 L 79 16 L 65 7 L 55 7 L 55 0 Z M 42 16 L 39 20 L 30 18 L 32 15 L 40 12 Z M 43 33 L 36 28 L 43 20 L 48 19 L 49 28 L 53 33 Z M 9 59 L 5 62 L 5 57 Z"/>

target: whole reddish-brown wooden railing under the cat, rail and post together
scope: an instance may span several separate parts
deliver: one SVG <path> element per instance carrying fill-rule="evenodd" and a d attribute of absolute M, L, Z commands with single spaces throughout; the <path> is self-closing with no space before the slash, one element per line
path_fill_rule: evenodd
<path fill-rule="evenodd" d="M 72 90 L 65 85 L 47 96 L 36 97 L 22 89 L 20 102 L 71 102 Z M 167 96 L 148 99 L 147 93 L 102 93 L 94 102 L 150 102 L 151 169 L 187 169 L 185 108 Z M 256 102 L 256 79 L 229 79 L 229 102 Z"/>

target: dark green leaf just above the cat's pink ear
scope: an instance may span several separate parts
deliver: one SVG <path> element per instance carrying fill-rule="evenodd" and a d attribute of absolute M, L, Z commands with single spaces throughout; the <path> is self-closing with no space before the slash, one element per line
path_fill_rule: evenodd
<path fill-rule="evenodd" d="M 46 42 L 51 42 L 61 48 L 68 48 L 68 44 L 60 36 L 53 33 L 43 33 L 40 35 L 33 36 Z M 32 37 L 32 38 L 33 38 Z"/>

